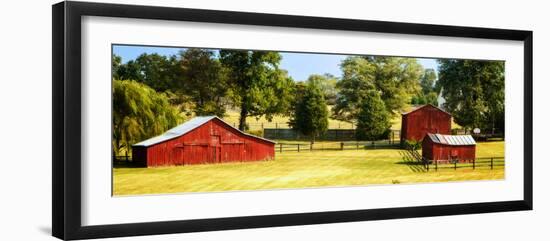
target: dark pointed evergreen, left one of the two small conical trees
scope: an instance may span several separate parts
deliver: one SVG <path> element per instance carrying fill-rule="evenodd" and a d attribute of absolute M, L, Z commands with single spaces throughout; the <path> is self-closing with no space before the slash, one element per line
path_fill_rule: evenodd
<path fill-rule="evenodd" d="M 322 89 L 315 83 L 296 88 L 293 115 L 289 125 L 300 133 L 309 136 L 311 143 L 328 128 L 328 107 Z"/>

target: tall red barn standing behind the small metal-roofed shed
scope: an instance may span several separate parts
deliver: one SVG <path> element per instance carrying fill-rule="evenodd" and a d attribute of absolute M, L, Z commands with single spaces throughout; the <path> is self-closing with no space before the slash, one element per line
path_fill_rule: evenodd
<path fill-rule="evenodd" d="M 405 140 L 422 141 L 428 133 L 451 134 L 452 116 L 431 104 L 403 113 L 401 116 L 401 143 Z"/>

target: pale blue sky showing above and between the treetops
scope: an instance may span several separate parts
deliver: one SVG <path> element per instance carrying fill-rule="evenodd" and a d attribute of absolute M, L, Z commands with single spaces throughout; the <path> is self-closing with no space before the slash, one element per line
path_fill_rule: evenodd
<path fill-rule="evenodd" d="M 128 45 L 113 45 L 113 53 L 122 58 L 122 63 L 137 58 L 140 54 L 157 53 L 160 55 L 174 55 L 183 48 L 171 47 L 149 47 L 149 46 L 128 46 Z M 310 53 L 281 53 L 283 59 L 281 68 L 286 69 L 289 75 L 294 80 L 306 80 L 311 74 L 329 73 L 340 77 L 340 62 L 347 55 L 337 54 L 310 54 Z M 437 70 L 435 59 L 417 58 L 418 62 L 424 68 L 432 68 Z"/>

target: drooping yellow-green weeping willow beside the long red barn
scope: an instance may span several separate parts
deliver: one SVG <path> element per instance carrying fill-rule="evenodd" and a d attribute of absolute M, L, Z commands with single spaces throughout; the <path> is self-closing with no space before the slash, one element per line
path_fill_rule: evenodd
<path fill-rule="evenodd" d="M 113 81 L 113 152 L 128 155 L 134 143 L 157 136 L 181 121 L 164 93 L 132 80 Z"/>

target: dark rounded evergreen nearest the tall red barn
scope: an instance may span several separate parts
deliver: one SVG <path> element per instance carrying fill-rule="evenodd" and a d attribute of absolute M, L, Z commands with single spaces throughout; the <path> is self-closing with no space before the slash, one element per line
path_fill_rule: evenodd
<path fill-rule="evenodd" d="M 380 93 L 376 90 L 368 91 L 361 100 L 357 115 L 357 139 L 374 141 L 385 138 L 390 127 L 390 114 Z"/>

